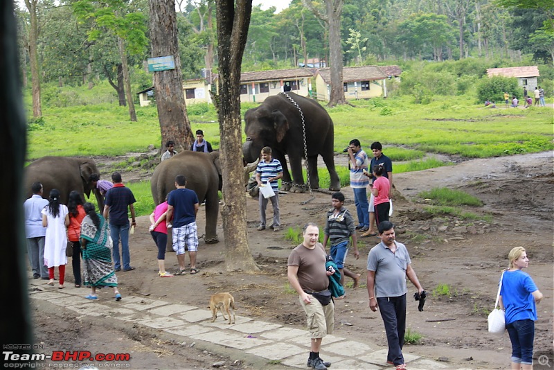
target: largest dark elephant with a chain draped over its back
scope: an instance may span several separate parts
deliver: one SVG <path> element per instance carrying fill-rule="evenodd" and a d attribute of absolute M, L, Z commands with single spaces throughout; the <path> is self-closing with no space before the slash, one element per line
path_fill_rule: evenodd
<path fill-rule="evenodd" d="M 289 96 L 294 103 L 287 98 Z M 305 120 L 305 141 L 301 112 Z M 305 191 L 302 159 L 307 149 L 307 170 L 310 187 L 319 189 L 317 156 L 321 155 L 329 171 L 329 190 L 339 191 L 341 182 L 334 169 L 334 127 L 331 117 L 315 100 L 287 92 L 266 98 L 259 107 L 244 114 L 247 141 L 242 146 L 245 163 L 256 161 L 263 147 L 269 146 L 272 157 L 283 166 L 281 188 L 293 193 Z M 292 179 L 285 155 L 289 157 Z"/>

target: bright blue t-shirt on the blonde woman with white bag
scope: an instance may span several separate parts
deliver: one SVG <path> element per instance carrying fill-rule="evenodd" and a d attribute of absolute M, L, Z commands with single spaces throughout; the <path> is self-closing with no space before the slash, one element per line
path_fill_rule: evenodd
<path fill-rule="evenodd" d="M 500 295 L 506 310 L 506 324 L 527 319 L 537 321 L 537 306 L 531 294 L 535 290 L 537 285 L 527 272 L 521 270 L 504 272 Z"/>

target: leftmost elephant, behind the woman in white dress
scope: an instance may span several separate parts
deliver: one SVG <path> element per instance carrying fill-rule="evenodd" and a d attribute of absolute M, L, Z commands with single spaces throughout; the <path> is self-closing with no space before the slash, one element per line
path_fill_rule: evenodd
<path fill-rule="evenodd" d="M 24 184 L 26 197 L 33 195 L 31 185 L 33 182 L 41 182 L 43 191 L 42 197 L 48 199 L 50 191 L 55 188 L 60 191 L 60 198 L 63 204 L 67 204 L 69 193 L 75 190 L 86 201 L 91 191 L 96 196 L 99 211 L 104 209 L 104 197 L 98 188 L 89 182 L 89 176 L 99 173 L 93 159 L 78 157 L 54 157 L 47 156 L 33 161 L 25 168 Z"/>

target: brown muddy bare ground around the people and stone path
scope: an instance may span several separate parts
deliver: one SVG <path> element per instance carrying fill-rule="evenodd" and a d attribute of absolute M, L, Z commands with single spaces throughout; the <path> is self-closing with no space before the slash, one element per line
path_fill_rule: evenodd
<path fill-rule="evenodd" d="M 120 159 L 97 159 L 107 178 L 110 163 Z M 102 162 L 104 164 L 102 164 Z M 344 158 L 337 157 L 337 166 Z M 429 292 L 425 310 L 419 312 L 411 298 L 415 288 L 409 285 L 407 326 L 423 337 L 418 344 L 406 345 L 404 351 L 442 361 L 449 368 L 506 369 L 510 363 L 508 335 L 496 337 L 487 331 L 487 313 L 494 306 L 501 270 L 507 266 L 512 247 L 524 246 L 530 257 L 528 273 L 544 294 L 539 304 L 535 331 L 535 358 L 547 353 L 551 364 L 553 349 L 553 220 L 554 173 L 551 152 L 491 159 L 463 161 L 455 166 L 418 173 L 394 175 L 396 191 L 391 220 L 397 225 L 397 240 L 406 244 L 412 266 Z M 324 169 L 323 169 L 324 170 Z M 123 179 L 148 177 L 148 171 L 123 173 Z M 467 220 L 454 215 L 430 215 L 426 200 L 418 193 L 437 186 L 456 188 L 483 201 L 479 208 L 464 211 L 490 216 Z M 355 215 L 352 190 L 343 188 L 346 206 Z M 305 319 L 298 299 L 285 288 L 287 256 L 294 243 L 284 236 L 288 228 L 298 228 L 307 221 L 323 225 L 330 195 L 280 195 L 280 232 L 257 231 L 258 201 L 247 197 L 249 246 L 260 272 L 228 273 L 224 267 L 224 235 L 221 220 L 217 228 L 220 243 L 200 242 L 198 274 L 160 279 L 157 276 L 157 249 L 148 233 L 148 216 L 138 218 L 138 227 L 130 238 L 132 265 L 136 270 L 118 273 L 120 291 L 126 294 L 162 298 L 175 303 L 208 306 L 215 292 L 229 291 L 235 297 L 238 315 L 255 317 L 295 328 L 303 328 Z M 271 216 L 271 206 L 268 215 Z M 199 211 L 199 234 L 203 234 L 204 210 Z M 347 259 L 353 272 L 362 275 L 362 284 L 353 289 L 346 283 L 346 299 L 336 302 L 335 334 L 386 347 L 386 336 L 378 312 L 368 308 L 366 258 L 376 237 L 360 239 L 361 258 Z M 68 265 L 68 267 L 71 263 Z M 177 258 L 166 256 L 168 270 L 177 270 Z M 72 286 L 71 267 L 67 285 Z M 449 285 L 449 294 L 433 291 Z M 73 289 L 73 288 L 71 288 Z M 83 296 L 88 290 L 81 288 Z M 124 298 L 125 299 L 125 298 Z M 157 330 L 139 329 L 132 324 L 114 325 L 98 318 L 75 317 L 56 306 L 33 306 L 36 342 L 48 352 L 59 349 L 86 350 L 96 353 L 132 351 L 132 369 L 208 369 L 224 360 L 227 369 L 252 368 L 237 355 L 215 349 L 183 346 L 166 340 Z M 308 347 L 306 347 L 308 351 Z M 323 340 L 322 353 L 325 353 Z M 278 369 L 278 364 L 267 364 Z"/>

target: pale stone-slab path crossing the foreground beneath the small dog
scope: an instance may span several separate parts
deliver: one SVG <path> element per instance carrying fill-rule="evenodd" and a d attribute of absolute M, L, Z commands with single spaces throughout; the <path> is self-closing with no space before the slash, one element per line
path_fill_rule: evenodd
<path fill-rule="evenodd" d="M 30 298 L 46 300 L 76 312 L 78 315 L 111 317 L 134 325 L 177 335 L 181 342 L 206 342 L 226 353 L 236 350 L 235 358 L 265 359 L 265 363 L 283 364 L 289 368 L 307 369 L 310 336 L 307 331 L 237 315 L 235 324 L 227 324 L 221 314 L 211 322 L 211 311 L 195 306 L 175 304 L 161 299 L 123 296 L 114 301 L 111 288 L 98 291 L 98 300 L 84 299 L 88 289 L 57 289 L 30 280 Z M 67 284 L 69 285 L 69 284 Z M 301 308 L 298 307 L 300 310 Z M 332 369 L 394 369 L 386 364 L 386 349 L 348 340 L 336 335 L 323 339 L 321 357 L 332 362 Z M 232 352 L 231 352 L 232 353 Z M 415 369 L 447 369 L 447 364 L 404 352 L 406 367 Z M 261 363 L 264 363 L 263 361 Z"/>

